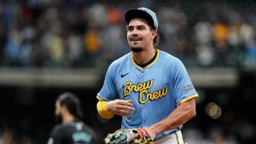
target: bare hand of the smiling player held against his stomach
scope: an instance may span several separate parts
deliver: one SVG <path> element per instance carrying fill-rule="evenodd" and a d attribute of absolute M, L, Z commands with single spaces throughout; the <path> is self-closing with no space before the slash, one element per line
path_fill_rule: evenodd
<path fill-rule="evenodd" d="M 129 116 L 135 111 L 131 100 L 113 100 L 108 101 L 106 108 L 109 112 L 113 112 L 119 116 Z"/>

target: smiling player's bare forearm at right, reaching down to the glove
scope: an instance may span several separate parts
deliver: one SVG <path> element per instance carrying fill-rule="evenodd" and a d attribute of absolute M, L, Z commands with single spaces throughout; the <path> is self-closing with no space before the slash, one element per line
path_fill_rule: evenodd
<path fill-rule="evenodd" d="M 178 126 L 185 124 L 190 118 L 195 117 L 195 100 L 184 102 L 177 107 L 172 113 L 159 123 L 150 126 L 156 134 L 161 134 L 167 130 L 176 129 Z"/>

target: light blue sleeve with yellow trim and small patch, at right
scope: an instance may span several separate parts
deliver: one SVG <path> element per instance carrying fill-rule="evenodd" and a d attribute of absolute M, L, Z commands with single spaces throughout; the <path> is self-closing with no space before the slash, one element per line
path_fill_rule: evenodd
<path fill-rule="evenodd" d="M 175 60 L 171 71 L 173 93 L 177 106 L 185 101 L 197 98 L 198 94 L 196 93 L 195 87 L 192 84 L 189 74 L 181 60 Z"/>

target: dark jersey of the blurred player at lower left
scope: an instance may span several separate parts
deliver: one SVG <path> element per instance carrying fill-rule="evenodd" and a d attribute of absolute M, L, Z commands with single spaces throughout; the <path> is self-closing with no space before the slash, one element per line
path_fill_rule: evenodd
<path fill-rule="evenodd" d="M 52 130 L 48 144 L 96 144 L 96 135 L 83 122 L 58 124 Z"/>

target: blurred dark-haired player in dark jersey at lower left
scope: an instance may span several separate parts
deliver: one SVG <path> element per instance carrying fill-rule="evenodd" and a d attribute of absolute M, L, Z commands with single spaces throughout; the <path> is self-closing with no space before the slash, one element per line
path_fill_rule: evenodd
<path fill-rule="evenodd" d="M 97 144 L 96 134 L 82 121 L 79 98 L 67 92 L 55 101 L 55 116 L 61 124 L 51 131 L 48 144 Z"/>

